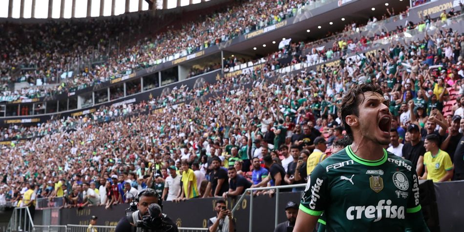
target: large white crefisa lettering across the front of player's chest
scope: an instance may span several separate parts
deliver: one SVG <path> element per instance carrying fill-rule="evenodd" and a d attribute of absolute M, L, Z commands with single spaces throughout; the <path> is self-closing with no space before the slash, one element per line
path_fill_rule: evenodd
<path fill-rule="evenodd" d="M 386 203 L 386 205 L 384 205 Z M 380 200 L 377 206 L 352 206 L 346 211 L 348 220 L 361 219 L 362 215 L 366 218 L 375 218 L 374 222 L 385 218 L 404 219 L 404 206 L 392 206 L 392 201 Z"/>

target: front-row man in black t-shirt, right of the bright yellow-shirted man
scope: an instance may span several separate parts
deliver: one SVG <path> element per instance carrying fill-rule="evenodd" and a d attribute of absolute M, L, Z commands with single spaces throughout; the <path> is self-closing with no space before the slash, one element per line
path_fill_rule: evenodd
<path fill-rule="evenodd" d="M 224 192 L 229 190 L 229 178 L 227 177 L 227 171 L 221 169 L 221 160 L 217 157 L 212 160 L 211 167 L 212 172 L 210 183 L 208 183 L 208 187 L 206 187 L 204 197 L 208 197 L 210 190 L 212 196 L 221 197 Z"/>

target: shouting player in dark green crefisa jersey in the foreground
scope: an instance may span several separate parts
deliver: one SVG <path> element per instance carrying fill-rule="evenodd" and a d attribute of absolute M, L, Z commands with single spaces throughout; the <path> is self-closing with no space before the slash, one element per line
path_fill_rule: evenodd
<path fill-rule="evenodd" d="M 416 170 L 383 149 L 390 143 L 392 117 L 380 86 L 354 85 L 340 105 L 353 144 L 313 170 L 294 231 L 313 231 L 324 212 L 328 232 L 428 232 Z"/>

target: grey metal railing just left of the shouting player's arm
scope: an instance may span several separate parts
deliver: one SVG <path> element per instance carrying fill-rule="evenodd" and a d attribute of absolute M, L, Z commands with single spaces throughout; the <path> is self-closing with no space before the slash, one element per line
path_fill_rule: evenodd
<path fill-rule="evenodd" d="M 285 185 L 285 186 L 274 186 L 274 187 L 262 187 L 262 188 L 250 188 L 246 189 L 242 196 L 238 199 L 235 203 L 235 206 L 232 208 L 232 213 L 237 210 L 238 206 L 242 202 L 243 198 L 247 195 L 247 192 L 250 192 L 250 224 L 249 224 L 249 231 L 252 232 L 252 225 L 253 225 L 253 190 L 275 190 L 275 215 L 274 215 L 274 228 L 277 226 L 278 221 L 278 212 L 279 212 L 279 190 L 280 189 L 291 189 L 291 188 L 301 188 L 306 187 L 306 184 L 297 184 L 297 185 Z M 303 192 L 301 193 L 303 194 Z"/>

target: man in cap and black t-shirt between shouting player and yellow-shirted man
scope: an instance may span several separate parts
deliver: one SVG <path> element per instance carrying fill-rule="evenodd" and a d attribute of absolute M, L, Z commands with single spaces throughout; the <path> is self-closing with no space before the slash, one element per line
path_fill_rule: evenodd
<path fill-rule="evenodd" d="M 419 126 L 411 124 L 407 127 L 409 133 L 409 141 L 403 146 L 401 153 L 403 157 L 412 162 L 416 172 L 419 176 L 423 174 L 423 158 L 425 153 L 424 142 L 421 140 L 421 133 Z"/>

